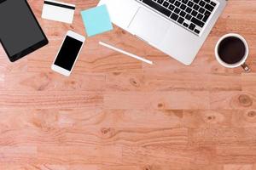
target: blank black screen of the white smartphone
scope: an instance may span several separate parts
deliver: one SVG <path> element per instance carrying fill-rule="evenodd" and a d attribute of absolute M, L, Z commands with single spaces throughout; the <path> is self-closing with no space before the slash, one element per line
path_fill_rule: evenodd
<path fill-rule="evenodd" d="M 67 71 L 71 71 L 82 45 L 83 42 L 67 36 L 57 58 L 55 59 L 55 65 L 58 65 Z"/>

